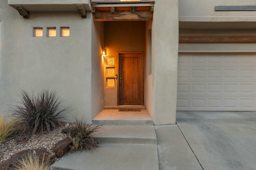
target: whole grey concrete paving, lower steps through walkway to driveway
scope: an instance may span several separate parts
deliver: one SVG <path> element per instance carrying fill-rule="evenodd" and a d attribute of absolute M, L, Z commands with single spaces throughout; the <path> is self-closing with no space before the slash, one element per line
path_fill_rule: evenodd
<path fill-rule="evenodd" d="M 98 138 L 98 150 L 65 156 L 52 170 L 256 169 L 256 112 L 179 111 L 177 125 L 108 126 Z"/>

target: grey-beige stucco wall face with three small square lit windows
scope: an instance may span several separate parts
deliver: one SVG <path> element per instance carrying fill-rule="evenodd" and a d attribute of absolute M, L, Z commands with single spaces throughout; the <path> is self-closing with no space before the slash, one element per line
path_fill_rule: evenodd
<path fill-rule="evenodd" d="M 0 109 L 16 104 L 20 90 L 56 89 L 78 117 L 92 112 L 92 14 L 30 13 L 24 19 L 0 1 L 2 26 Z M 33 27 L 43 27 L 43 37 L 33 37 Z M 46 27 L 56 27 L 57 37 L 46 37 Z M 60 37 L 60 27 L 70 27 L 70 37 Z"/>

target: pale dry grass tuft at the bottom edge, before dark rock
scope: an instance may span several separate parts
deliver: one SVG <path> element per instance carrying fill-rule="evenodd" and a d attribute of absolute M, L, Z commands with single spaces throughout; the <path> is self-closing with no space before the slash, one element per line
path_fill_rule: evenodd
<path fill-rule="evenodd" d="M 40 162 L 39 156 L 36 154 L 28 154 L 22 157 L 22 160 L 16 163 L 17 170 L 50 170 L 50 159 L 42 159 Z"/>

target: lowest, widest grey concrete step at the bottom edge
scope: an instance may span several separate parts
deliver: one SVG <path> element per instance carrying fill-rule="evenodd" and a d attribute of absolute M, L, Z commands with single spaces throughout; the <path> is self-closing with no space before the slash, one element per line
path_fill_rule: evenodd
<path fill-rule="evenodd" d="M 157 146 L 106 144 L 92 152 L 83 150 L 64 156 L 51 170 L 159 170 Z"/>

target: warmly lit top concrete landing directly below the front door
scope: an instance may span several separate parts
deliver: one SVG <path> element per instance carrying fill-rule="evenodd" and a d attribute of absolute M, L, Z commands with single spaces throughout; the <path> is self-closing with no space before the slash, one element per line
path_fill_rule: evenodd
<path fill-rule="evenodd" d="M 118 109 L 103 109 L 92 119 L 94 125 L 153 125 L 148 111 L 124 111 Z"/>

